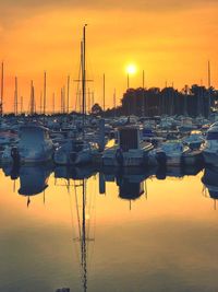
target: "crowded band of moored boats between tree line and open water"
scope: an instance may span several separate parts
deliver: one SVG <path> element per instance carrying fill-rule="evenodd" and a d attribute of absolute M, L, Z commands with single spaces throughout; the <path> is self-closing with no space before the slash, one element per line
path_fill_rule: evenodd
<path fill-rule="evenodd" d="M 156 121 L 148 135 L 147 126 L 137 117 L 134 124 L 128 120 L 117 127 L 113 118 L 92 115 L 85 115 L 84 125 L 77 114 L 35 116 L 31 120 L 29 116 L 5 116 L 0 127 L 0 161 L 15 165 L 51 162 L 144 170 L 166 165 L 216 165 L 216 122 L 207 120 L 207 127 L 197 125 L 196 133 L 192 129 L 181 132 L 181 119 L 173 117 L 173 120 L 177 126 L 167 131 L 160 120 Z M 192 122 L 196 122 L 194 118 Z"/>

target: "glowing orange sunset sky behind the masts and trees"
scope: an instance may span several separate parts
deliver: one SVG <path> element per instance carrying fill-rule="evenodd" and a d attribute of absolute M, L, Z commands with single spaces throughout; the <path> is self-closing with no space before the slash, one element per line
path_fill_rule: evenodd
<path fill-rule="evenodd" d="M 48 109 L 56 93 L 71 75 L 71 109 L 80 68 L 82 27 L 87 26 L 87 84 L 95 102 L 102 104 L 102 74 L 106 74 L 106 106 L 118 103 L 126 90 L 125 68 L 135 63 L 137 72 L 130 85 L 164 87 L 174 83 L 207 84 L 207 61 L 211 62 L 211 84 L 218 86 L 217 0 L 0 0 L 0 60 L 5 66 L 4 109 L 13 109 L 14 77 L 19 96 L 28 109 L 29 84 L 34 80 L 37 107 L 44 71 L 48 74 Z"/>

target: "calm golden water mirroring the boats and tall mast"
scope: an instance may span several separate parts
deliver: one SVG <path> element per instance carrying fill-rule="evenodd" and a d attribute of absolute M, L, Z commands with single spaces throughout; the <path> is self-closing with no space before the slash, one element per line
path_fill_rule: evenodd
<path fill-rule="evenodd" d="M 217 174 L 3 167 L 0 291 L 217 292 Z"/>

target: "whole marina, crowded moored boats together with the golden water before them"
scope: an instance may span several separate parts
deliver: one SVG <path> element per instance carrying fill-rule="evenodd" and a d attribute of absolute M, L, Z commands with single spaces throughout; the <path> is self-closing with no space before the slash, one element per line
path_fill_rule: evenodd
<path fill-rule="evenodd" d="M 0 290 L 217 287 L 216 114 L 165 118 L 1 117 Z"/>

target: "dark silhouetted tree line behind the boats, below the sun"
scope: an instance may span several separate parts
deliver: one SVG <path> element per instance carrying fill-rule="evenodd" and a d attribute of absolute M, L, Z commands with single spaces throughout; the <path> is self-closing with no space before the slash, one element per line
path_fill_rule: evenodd
<path fill-rule="evenodd" d="M 135 116 L 161 116 L 161 115 L 187 115 L 208 117 L 216 110 L 218 91 L 214 87 L 192 85 L 184 86 L 182 91 L 173 87 L 129 89 L 121 98 L 121 106 L 107 109 L 105 116 L 135 115 Z M 99 105 L 94 106 L 102 114 Z"/>

